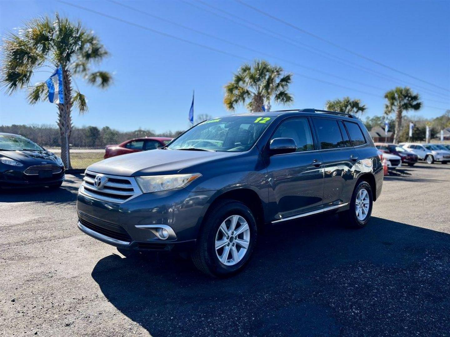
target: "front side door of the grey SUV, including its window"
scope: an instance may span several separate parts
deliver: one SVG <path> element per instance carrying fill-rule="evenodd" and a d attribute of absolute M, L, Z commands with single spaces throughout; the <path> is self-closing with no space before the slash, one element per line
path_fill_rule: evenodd
<path fill-rule="evenodd" d="M 275 219 L 322 208 L 322 157 L 315 151 L 311 124 L 307 118 L 281 122 L 271 139 L 293 138 L 297 152 L 268 157 L 271 200 L 275 201 Z"/>

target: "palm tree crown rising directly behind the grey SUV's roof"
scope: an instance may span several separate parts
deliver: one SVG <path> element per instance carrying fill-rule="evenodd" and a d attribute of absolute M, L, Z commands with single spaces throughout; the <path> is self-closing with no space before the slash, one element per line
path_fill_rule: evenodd
<path fill-rule="evenodd" d="M 259 112 L 271 99 L 290 104 L 293 102 L 293 96 L 288 93 L 291 82 L 292 74 L 284 73 L 282 67 L 260 60 L 255 60 L 252 65 L 246 63 L 225 85 L 225 107 L 234 111 L 238 104 L 247 103 L 248 110 Z"/>

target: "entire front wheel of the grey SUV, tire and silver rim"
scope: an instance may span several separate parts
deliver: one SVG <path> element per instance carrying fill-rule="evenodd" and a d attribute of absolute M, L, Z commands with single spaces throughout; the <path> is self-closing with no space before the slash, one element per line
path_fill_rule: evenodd
<path fill-rule="evenodd" d="M 256 220 L 250 208 L 235 200 L 220 201 L 202 224 L 192 261 L 208 275 L 233 275 L 250 259 L 256 239 Z"/>

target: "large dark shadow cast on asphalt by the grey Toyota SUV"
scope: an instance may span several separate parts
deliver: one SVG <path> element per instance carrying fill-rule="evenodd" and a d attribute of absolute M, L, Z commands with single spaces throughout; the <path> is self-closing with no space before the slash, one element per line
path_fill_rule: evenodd
<path fill-rule="evenodd" d="M 320 216 L 267 228 L 229 279 L 171 255 L 110 255 L 92 277 L 154 337 L 438 335 L 450 331 L 449 239 L 382 218 L 351 230 Z"/>

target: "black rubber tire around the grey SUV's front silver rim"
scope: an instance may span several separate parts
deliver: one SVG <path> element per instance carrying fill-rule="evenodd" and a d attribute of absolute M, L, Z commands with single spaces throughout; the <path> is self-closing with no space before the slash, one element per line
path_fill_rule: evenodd
<path fill-rule="evenodd" d="M 194 265 L 203 273 L 214 277 L 228 277 L 242 270 L 249 261 L 257 241 L 257 224 L 250 208 L 239 201 L 221 200 L 212 207 L 203 220 L 198 242 L 191 258 Z M 216 254 L 215 242 L 220 225 L 232 215 L 244 218 L 250 230 L 250 238 L 247 251 L 242 259 L 232 266 L 227 266 L 220 262 Z M 236 247 L 238 246 L 236 245 Z"/>

